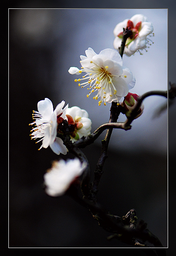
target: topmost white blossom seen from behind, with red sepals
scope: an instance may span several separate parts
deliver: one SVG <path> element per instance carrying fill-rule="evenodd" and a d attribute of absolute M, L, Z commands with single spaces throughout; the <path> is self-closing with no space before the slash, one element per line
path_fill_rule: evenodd
<path fill-rule="evenodd" d="M 137 51 L 142 54 L 140 50 L 146 49 L 147 45 L 153 43 L 150 38 L 147 38 L 147 36 L 154 36 L 154 34 L 151 34 L 154 30 L 152 23 L 142 14 L 136 14 L 131 19 L 125 19 L 123 22 L 118 23 L 113 31 L 115 36 L 113 46 L 117 50 L 119 50 L 122 42 L 123 28 L 125 29 L 126 27 L 132 31 L 132 35 L 127 38 L 124 54 L 131 56 Z"/>

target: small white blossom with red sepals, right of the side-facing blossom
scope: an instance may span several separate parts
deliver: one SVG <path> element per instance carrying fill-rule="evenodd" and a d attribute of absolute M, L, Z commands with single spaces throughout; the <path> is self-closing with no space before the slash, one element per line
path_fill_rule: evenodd
<path fill-rule="evenodd" d="M 77 106 L 67 108 L 66 118 L 70 128 L 71 141 L 75 142 L 82 136 L 88 136 L 91 130 L 91 120 L 84 109 Z"/>

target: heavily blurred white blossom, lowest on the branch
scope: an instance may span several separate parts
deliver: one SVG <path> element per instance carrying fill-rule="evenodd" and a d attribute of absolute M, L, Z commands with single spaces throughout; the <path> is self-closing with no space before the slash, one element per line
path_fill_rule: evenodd
<path fill-rule="evenodd" d="M 62 196 L 86 168 L 78 158 L 54 161 L 51 169 L 44 174 L 45 192 L 49 196 Z"/>

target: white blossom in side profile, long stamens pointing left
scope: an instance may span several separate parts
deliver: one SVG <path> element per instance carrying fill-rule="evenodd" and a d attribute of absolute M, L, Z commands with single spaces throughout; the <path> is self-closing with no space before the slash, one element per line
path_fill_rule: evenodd
<path fill-rule="evenodd" d="M 42 140 L 42 145 L 39 150 L 44 147 L 51 147 L 52 151 L 56 154 L 67 154 L 67 148 L 63 144 L 62 139 L 56 137 L 57 125 L 60 118 L 65 119 L 65 114 L 68 108 L 68 104 L 63 109 L 65 102 L 60 102 L 56 109 L 53 111 L 52 102 L 45 98 L 37 104 L 38 111 L 33 110 L 33 119 L 35 121 L 30 125 L 35 125 L 31 130 L 31 139 L 40 139 L 36 143 Z"/>

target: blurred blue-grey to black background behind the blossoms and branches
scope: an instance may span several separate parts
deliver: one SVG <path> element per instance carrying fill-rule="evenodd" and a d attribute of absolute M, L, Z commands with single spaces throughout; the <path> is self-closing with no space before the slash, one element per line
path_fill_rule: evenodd
<path fill-rule="evenodd" d="M 93 4 L 82 9 L 63 5 L 58 9 L 45 2 L 37 3 L 19 3 L 15 9 L 9 9 L 9 247 L 129 247 L 116 240 L 107 241 L 110 233 L 69 197 L 56 199 L 45 194 L 43 174 L 58 156 L 50 148 L 37 151 L 38 144 L 30 140 L 28 124 L 32 122 L 32 110 L 37 110 L 37 102 L 44 98 L 49 98 L 54 108 L 64 100 L 69 107 L 86 109 L 92 120 L 92 132 L 108 122 L 110 104 L 99 107 L 93 98 L 87 99 L 86 89 L 78 87 L 74 75 L 67 70 L 71 66 L 80 67 L 79 56 L 88 47 L 96 53 L 113 49 L 116 24 L 139 13 L 153 23 L 155 36 L 151 38 L 154 44 L 147 53 L 143 51 L 143 56 L 139 53 L 123 56 L 124 66 L 136 78 L 131 92 L 140 95 L 149 90 L 167 90 L 168 79 L 176 82 L 172 65 L 173 9 L 168 13 L 168 7 L 159 4 L 156 7 L 153 4 L 152 9 L 126 9 L 116 4 L 110 8 L 106 4 L 101 8 Z M 87 9 L 90 7 L 93 9 Z M 119 216 L 135 208 L 138 218 L 147 222 L 148 229 L 167 247 L 168 152 L 172 163 L 176 105 L 173 103 L 167 110 L 167 100 L 160 96 L 147 98 L 144 105 L 142 116 L 132 123 L 130 131 L 113 131 L 98 201 L 106 211 Z M 165 111 L 158 114 L 163 106 Z M 123 120 L 122 115 L 119 121 Z M 92 173 L 104 136 L 105 132 L 84 149 Z M 175 192 L 172 184 L 173 180 L 171 200 Z"/>

